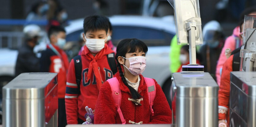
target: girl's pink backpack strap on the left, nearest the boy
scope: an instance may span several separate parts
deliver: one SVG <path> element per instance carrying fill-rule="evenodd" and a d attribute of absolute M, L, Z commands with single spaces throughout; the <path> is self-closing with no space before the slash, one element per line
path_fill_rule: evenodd
<path fill-rule="evenodd" d="M 120 87 L 119 87 L 119 82 L 118 82 L 116 77 L 108 79 L 107 81 L 109 82 L 109 85 L 111 87 L 112 97 L 113 97 L 115 106 L 117 108 L 117 112 L 120 116 L 121 122 L 122 122 L 122 124 L 125 124 L 126 122 L 125 122 L 123 113 L 120 109 L 122 95 L 121 95 L 121 90 L 120 90 Z"/>

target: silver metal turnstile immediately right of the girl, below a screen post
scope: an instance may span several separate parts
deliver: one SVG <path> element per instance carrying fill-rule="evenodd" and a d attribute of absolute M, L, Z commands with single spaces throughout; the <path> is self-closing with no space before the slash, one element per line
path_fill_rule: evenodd
<path fill-rule="evenodd" d="M 172 74 L 172 80 L 173 127 L 217 127 L 219 86 L 212 76 L 179 72 Z"/>

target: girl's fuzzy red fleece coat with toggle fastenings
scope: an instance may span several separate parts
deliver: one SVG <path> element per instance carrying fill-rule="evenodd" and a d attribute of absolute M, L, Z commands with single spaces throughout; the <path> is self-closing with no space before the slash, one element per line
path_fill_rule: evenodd
<path fill-rule="evenodd" d="M 122 94 L 120 109 L 126 120 L 126 124 L 129 124 L 129 120 L 133 122 L 142 121 L 143 124 L 170 124 L 172 121 L 170 106 L 166 100 L 166 97 L 157 82 L 156 85 L 156 96 L 154 105 L 154 116 L 151 115 L 150 105 L 148 101 L 147 84 L 144 81 L 142 75 L 140 77 L 140 83 L 138 92 L 143 97 L 143 101 L 140 101 L 142 105 L 135 105 L 132 101 L 128 101 L 128 98 L 132 98 L 130 90 L 124 85 L 120 74 L 117 73 L 116 78 L 119 81 L 119 86 Z M 95 114 L 95 124 L 122 124 L 120 116 L 115 107 L 111 87 L 108 82 L 105 82 L 101 86 L 101 90 L 98 96 Z"/>

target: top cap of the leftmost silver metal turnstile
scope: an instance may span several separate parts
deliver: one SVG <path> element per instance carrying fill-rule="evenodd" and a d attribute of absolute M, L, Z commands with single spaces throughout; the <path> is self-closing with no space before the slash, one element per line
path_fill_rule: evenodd
<path fill-rule="evenodd" d="M 57 73 L 22 73 L 3 87 L 3 98 L 44 98 L 56 85 Z"/>

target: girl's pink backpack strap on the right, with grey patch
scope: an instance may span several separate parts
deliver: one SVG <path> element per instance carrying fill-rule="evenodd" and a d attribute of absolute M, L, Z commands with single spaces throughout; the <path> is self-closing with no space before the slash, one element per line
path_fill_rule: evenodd
<path fill-rule="evenodd" d="M 147 94 L 148 94 L 148 100 L 149 100 L 149 104 L 150 104 L 150 109 L 151 109 L 151 113 L 152 116 L 154 116 L 154 111 L 153 111 L 153 104 L 154 104 L 154 100 L 155 100 L 155 81 L 151 78 L 145 78 L 145 82 L 147 84 Z"/>

